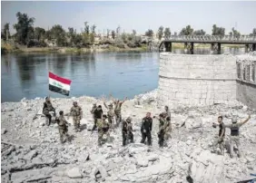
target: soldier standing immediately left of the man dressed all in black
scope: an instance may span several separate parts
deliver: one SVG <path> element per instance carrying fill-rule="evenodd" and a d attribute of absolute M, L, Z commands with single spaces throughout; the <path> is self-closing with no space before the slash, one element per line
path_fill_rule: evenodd
<path fill-rule="evenodd" d="M 129 143 L 129 140 L 131 140 L 131 143 L 133 143 L 133 124 L 132 124 L 132 119 L 130 117 L 127 118 L 126 120 L 123 120 L 122 134 L 123 134 L 123 146 Z"/>

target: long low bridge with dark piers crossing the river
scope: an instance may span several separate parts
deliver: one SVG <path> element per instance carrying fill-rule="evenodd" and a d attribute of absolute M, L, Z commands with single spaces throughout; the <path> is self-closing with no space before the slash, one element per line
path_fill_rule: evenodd
<path fill-rule="evenodd" d="M 159 51 L 172 52 L 172 43 L 184 43 L 184 49 L 190 54 L 193 54 L 194 43 L 210 43 L 211 50 L 218 54 L 221 54 L 222 44 L 244 44 L 246 53 L 256 51 L 255 35 L 172 35 L 160 43 Z"/>

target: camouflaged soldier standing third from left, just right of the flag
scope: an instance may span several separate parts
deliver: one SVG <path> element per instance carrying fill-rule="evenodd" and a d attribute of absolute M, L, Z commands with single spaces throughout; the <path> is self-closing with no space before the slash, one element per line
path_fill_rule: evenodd
<path fill-rule="evenodd" d="M 80 130 L 80 120 L 83 118 L 82 108 L 77 105 L 77 101 L 73 102 L 73 107 L 70 109 L 70 115 L 73 116 L 74 130 L 77 132 Z"/>

